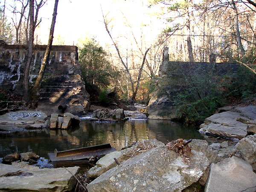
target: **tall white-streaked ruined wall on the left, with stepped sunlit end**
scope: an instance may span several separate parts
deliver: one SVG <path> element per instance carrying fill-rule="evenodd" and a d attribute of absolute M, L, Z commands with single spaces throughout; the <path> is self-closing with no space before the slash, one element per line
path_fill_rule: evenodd
<path fill-rule="evenodd" d="M 46 46 L 35 45 L 30 66 L 29 85 L 35 81 Z M 52 46 L 49 63 L 44 74 L 38 110 L 61 113 L 58 105 L 67 105 L 70 113 L 81 114 L 89 109 L 89 94 L 81 77 L 81 67 L 77 62 L 76 46 Z M 27 61 L 27 47 L 23 45 L 0 46 L 0 89 L 15 95 L 23 95 L 24 64 Z M 57 106 L 57 107 L 56 107 Z"/>

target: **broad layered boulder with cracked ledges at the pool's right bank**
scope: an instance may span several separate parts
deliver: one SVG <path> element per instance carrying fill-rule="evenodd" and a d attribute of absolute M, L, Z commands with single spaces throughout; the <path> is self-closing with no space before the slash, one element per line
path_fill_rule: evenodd
<path fill-rule="evenodd" d="M 233 111 L 216 113 L 205 119 L 199 132 L 228 138 L 242 139 L 247 135 L 247 128 L 253 126 L 256 106 L 236 107 Z"/>

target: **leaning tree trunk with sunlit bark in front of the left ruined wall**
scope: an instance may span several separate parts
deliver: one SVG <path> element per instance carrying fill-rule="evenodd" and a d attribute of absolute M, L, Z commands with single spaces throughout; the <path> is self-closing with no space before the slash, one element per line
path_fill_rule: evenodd
<path fill-rule="evenodd" d="M 55 27 L 55 22 L 56 22 L 56 16 L 57 16 L 57 8 L 58 8 L 58 0 L 55 0 L 55 5 L 54 5 L 54 9 L 53 9 L 53 14 L 52 14 L 52 24 L 51 24 L 51 28 L 50 28 L 50 33 L 49 33 L 49 40 L 48 40 L 48 44 L 47 44 L 47 48 L 46 51 L 44 53 L 44 59 L 43 62 L 41 64 L 41 68 L 38 74 L 38 77 L 35 81 L 35 85 L 31 90 L 31 102 L 33 107 L 37 106 L 38 103 L 38 99 L 39 99 L 39 95 L 40 95 L 40 87 L 41 87 L 41 82 L 44 78 L 44 72 L 45 69 L 47 67 L 47 63 L 49 60 L 49 55 L 52 49 L 52 41 L 53 41 L 53 33 L 54 33 L 54 27 Z"/>

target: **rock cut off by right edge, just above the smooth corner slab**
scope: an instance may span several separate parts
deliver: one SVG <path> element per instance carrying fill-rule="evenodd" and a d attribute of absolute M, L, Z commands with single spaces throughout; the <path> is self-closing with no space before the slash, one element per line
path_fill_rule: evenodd
<path fill-rule="evenodd" d="M 256 134 L 249 135 L 239 141 L 236 144 L 236 150 L 238 150 L 243 159 L 251 164 L 254 170 L 256 170 Z"/>

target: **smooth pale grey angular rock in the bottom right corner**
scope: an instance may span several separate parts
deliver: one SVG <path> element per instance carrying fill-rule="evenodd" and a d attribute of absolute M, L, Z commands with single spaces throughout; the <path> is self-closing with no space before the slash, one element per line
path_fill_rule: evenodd
<path fill-rule="evenodd" d="M 241 192 L 254 187 L 255 183 L 256 174 L 250 164 L 237 157 L 231 157 L 217 164 L 212 163 L 205 192 Z"/>

